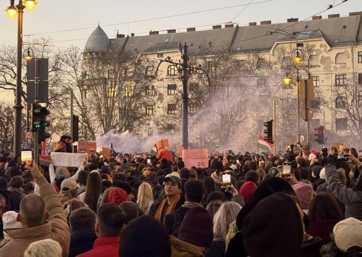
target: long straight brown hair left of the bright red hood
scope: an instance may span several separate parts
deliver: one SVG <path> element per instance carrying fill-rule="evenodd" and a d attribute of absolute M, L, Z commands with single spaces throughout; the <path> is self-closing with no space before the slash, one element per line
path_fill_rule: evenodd
<path fill-rule="evenodd" d="M 102 193 L 102 180 L 98 172 L 90 172 L 85 188 L 84 202 L 97 213 L 97 202 Z"/>

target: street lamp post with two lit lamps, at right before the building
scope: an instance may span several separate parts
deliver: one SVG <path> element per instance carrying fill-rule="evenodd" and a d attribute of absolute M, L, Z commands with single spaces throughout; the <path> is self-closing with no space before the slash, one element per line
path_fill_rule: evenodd
<path fill-rule="evenodd" d="M 285 85 L 290 85 L 292 79 L 291 77 L 289 77 L 289 69 L 295 69 L 296 70 L 296 119 L 297 119 L 297 123 L 296 123 L 296 127 L 297 127 L 297 132 L 296 132 L 296 141 L 300 141 L 300 77 L 299 77 L 299 70 L 300 69 L 306 69 L 308 71 L 308 78 L 310 77 L 310 72 L 309 72 L 309 67 L 307 65 L 303 65 L 304 63 L 304 53 L 302 50 L 296 48 L 291 52 L 291 59 L 292 59 L 292 64 L 289 64 L 286 69 L 287 69 L 287 75 L 286 77 L 283 78 L 283 82 L 285 83 Z"/>

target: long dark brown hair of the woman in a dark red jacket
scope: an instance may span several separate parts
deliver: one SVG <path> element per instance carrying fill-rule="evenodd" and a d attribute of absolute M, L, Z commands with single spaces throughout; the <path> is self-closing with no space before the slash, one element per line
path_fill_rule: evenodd
<path fill-rule="evenodd" d="M 309 220 L 315 222 L 327 219 L 342 220 L 343 214 L 336 197 L 331 192 L 321 192 L 316 194 L 311 202 Z"/>

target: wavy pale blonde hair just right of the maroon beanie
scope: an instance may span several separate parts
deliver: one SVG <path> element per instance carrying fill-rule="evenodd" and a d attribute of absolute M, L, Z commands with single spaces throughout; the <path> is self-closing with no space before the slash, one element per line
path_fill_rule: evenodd
<path fill-rule="evenodd" d="M 214 216 L 214 240 L 226 240 L 229 225 L 236 220 L 241 206 L 236 202 L 224 202 Z"/>

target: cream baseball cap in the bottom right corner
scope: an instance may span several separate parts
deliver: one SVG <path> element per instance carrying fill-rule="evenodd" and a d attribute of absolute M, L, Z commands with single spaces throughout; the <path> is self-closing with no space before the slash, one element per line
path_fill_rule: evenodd
<path fill-rule="evenodd" d="M 353 246 L 362 247 L 362 221 L 348 218 L 338 222 L 333 228 L 334 241 L 343 252 Z"/>

